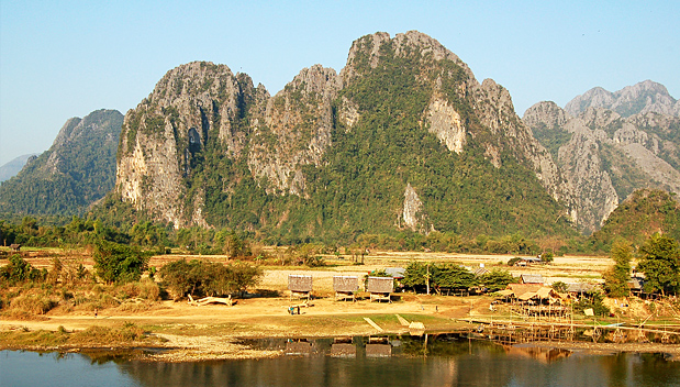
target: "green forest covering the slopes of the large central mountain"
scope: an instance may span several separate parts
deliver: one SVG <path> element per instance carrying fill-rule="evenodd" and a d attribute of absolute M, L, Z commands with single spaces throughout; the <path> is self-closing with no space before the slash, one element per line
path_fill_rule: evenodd
<path fill-rule="evenodd" d="M 321 166 L 303 166 L 309 198 L 267 195 L 267 181 L 253 179 L 245 161 L 231 159 L 219 145 L 207 144 L 191 187 L 205 188 L 210 223 L 257 230 L 268 241 L 285 244 L 348 244 L 365 233 L 399 239 L 399 229 L 404 229 L 403 192 L 411 184 L 430 220 L 425 230 L 471 236 L 571 235 L 560 207 L 533 172 L 508 151 L 501 154 L 501 168 L 482 156 L 481 141 L 490 134 L 470 102 L 455 92 L 464 79 L 459 66 L 416 51 L 398 56 L 389 44 L 382 46 L 376 68 L 364 66 L 361 55 L 367 53 L 355 58 L 360 76 L 338 97 L 357 103 L 361 119 L 352 130 L 335 122 L 333 146 Z M 422 126 L 437 79 L 466 125 L 477 132 L 460 155 Z"/>

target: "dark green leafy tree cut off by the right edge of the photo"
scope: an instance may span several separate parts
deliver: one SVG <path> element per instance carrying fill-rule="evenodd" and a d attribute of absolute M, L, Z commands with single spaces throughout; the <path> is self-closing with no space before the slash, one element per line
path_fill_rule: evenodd
<path fill-rule="evenodd" d="M 669 236 L 654 234 L 640 247 L 643 257 L 637 265 L 645 273 L 645 291 L 661 295 L 680 290 L 680 247 Z"/>

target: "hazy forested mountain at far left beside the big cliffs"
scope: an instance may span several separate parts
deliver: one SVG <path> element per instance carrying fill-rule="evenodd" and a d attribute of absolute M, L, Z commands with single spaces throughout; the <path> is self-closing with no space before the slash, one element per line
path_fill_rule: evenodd
<path fill-rule="evenodd" d="M 116 110 L 69 119 L 48 151 L 0 185 L 0 213 L 85 212 L 113 189 L 122 123 Z"/>

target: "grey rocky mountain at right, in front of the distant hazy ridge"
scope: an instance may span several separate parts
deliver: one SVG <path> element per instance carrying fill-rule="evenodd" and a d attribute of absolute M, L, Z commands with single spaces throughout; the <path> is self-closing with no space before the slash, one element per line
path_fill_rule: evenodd
<path fill-rule="evenodd" d="M 593 101 L 604 98 L 593 90 Z M 676 117 L 646 112 L 623 118 L 588 108 L 568 118 L 554 102 L 539 102 L 527 109 L 523 121 L 547 147 L 557 150 L 557 164 L 575 194 L 577 223 L 587 231 L 598 230 L 635 189 L 680 192 Z"/>

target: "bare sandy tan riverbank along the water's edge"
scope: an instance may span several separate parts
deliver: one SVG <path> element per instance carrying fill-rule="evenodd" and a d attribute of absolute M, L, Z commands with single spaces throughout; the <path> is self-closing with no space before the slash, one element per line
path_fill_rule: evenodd
<path fill-rule="evenodd" d="M 293 301 L 297 302 L 297 301 Z M 38 321 L 0 321 L 0 350 L 82 352 L 93 350 L 154 349 L 135 358 L 152 362 L 270 358 L 282 351 L 256 350 L 242 339 L 352 338 L 406 334 L 422 324 L 426 331 L 466 331 L 477 325 L 459 321 L 489 312 L 491 298 L 404 294 L 394 302 L 369 300 L 312 300 L 291 316 L 283 297 L 239 299 L 232 307 L 193 307 L 163 301 L 149 311 L 116 309 L 92 313 L 46 316 Z M 488 316 L 488 314 L 483 314 Z M 370 319 L 372 322 L 367 322 Z M 414 332 L 422 334 L 423 331 Z M 520 345 L 569 351 L 669 353 L 680 356 L 680 345 L 657 343 L 534 342 Z"/>

